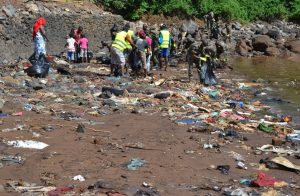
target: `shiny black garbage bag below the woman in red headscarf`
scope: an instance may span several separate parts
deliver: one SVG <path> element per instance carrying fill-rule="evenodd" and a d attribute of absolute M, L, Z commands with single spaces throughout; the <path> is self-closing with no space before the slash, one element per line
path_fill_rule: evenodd
<path fill-rule="evenodd" d="M 32 64 L 26 72 L 30 77 L 44 78 L 49 72 L 50 63 L 44 54 L 40 54 L 38 59 L 35 59 L 35 54 L 29 57 Z"/>

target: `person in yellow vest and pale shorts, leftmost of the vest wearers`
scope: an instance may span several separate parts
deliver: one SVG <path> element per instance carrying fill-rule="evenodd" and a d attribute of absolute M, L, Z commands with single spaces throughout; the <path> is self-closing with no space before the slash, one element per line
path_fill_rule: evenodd
<path fill-rule="evenodd" d="M 114 73 L 114 69 L 121 67 L 121 76 L 124 76 L 125 68 L 125 56 L 124 50 L 127 48 L 126 41 L 130 43 L 131 46 L 134 46 L 131 37 L 127 33 L 128 27 L 125 25 L 123 30 L 116 34 L 115 40 L 112 43 L 110 54 L 111 54 L 111 75 Z M 116 75 L 116 74 L 115 74 Z"/>

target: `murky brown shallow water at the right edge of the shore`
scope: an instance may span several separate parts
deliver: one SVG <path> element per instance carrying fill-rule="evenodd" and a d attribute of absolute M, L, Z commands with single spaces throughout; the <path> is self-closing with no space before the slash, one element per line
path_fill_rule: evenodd
<path fill-rule="evenodd" d="M 266 98 L 282 99 L 269 101 L 276 113 L 291 115 L 300 124 L 300 63 L 281 58 L 236 58 L 231 62 L 234 75 L 245 81 L 264 81 L 270 89 Z M 262 80 L 261 80 L 262 79 Z M 290 102 L 290 103 L 288 103 Z"/>

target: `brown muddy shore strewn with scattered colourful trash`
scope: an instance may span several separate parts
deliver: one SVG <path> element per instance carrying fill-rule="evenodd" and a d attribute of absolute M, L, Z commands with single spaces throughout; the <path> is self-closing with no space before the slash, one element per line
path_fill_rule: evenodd
<path fill-rule="evenodd" d="M 270 107 L 263 104 L 264 100 L 270 98 L 267 93 L 260 93 L 258 96 L 258 91 L 267 92 L 264 84 L 226 79 L 230 77 L 226 70 L 218 73 L 218 78 L 221 79 L 216 86 L 206 87 L 197 81 L 187 83 L 183 77 L 187 76 L 185 65 L 171 68 L 170 73 L 154 70 L 151 77 L 133 80 L 110 77 L 109 68 L 103 65 L 70 65 L 56 58 L 51 62 L 53 66 L 46 78 L 34 78 L 24 71 L 27 63 L 20 61 L 12 67 L 1 67 L 1 167 L 23 167 L 31 159 L 30 156 L 37 153 L 43 153 L 39 158 L 42 157 L 45 161 L 61 159 L 60 163 L 64 163 L 60 154 L 66 150 L 65 160 L 72 158 L 72 161 L 62 164 L 62 167 L 67 170 L 75 168 L 76 153 L 69 156 L 68 153 L 73 153 L 74 150 L 69 150 L 71 144 L 65 146 L 70 141 L 69 137 L 80 148 L 96 146 L 98 154 L 93 156 L 101 158 L 96 162 L 77 160 L 76 165 L 82 166 L 76 170 L 80 174 L 70 169 L 70 174 L 60 174 L 60 177 L 50 175 L 46 178 L 47 182 L 49 178 L 53 178 L 56 183 L 30 183 L 19 181 L 19 178 L 11 179 L 4 186 L 6 191 L 29 195 L 101 193 L 110 196 L 168 195 L 164 193 L 164 189 L 183 193 L 199 191 L 200 195 L 206 191 L 210 195 L 218 192 L 243 196 L 295 195 L 299 191 L 300 131 L 295 128 L 297 125 L 293 123 L 292 117 L 272 114 Z M 151 142 L 149 143 L 155 138 L 160 139 L 165 146 L 172 145 L 169 136 L 159 138 L 159 133 L 170 130 L 161 127 L 162 131 L 155 132 L 158 134 L 156 137 L 143 137 L 143 129 L 147 127 L 137 120 L 134 122 L 140 127 L 141 134 L 128 132 L 124 133 L 126 136 L 112 137 L 121 125 L 114 125 L 107 119 L 122 114 L 128 118 L 135 118 L 132 115 L 145 119 L 150 119 L 151 116 L 168 118 L 174 125 L 172 132 L 184 128 L 187 131 L 180 133 L 185 135 L 179 141 L 188 143 L 190 149 L 180 149 L 176 154 L 178 160 L 189 157 L 201 161 L 205 157 L 221 156 L 222 159 L 197 166 L 203 167 L 201 171 L 209 176 L 219 175 L 220 179 L 214 181 L 212 178 L 211 184 L 206 185 L 192 185 L 188 182 L 173 184 L 172 179 L 169 183 L 162 184 L 159 181 L 155 184 L 145 182 L 155 181 L 152 177 L 139 178 L 138 181 L 117 181 L 115 184 L 107 184 L 108 180 L 104 180 L 89 186 L 81 185 L 80 183 L 91 183 L 94 180 L 86 168 L 95 165 L 97 167 L 91 173 L 97 174 L 98 178 L 103 178 L 100 174 L 106 171 L 105 168 L 118 168 L 123 171 L 121 179 L 124 180 L 127 180 L 128 175 L 147 175 L 146 171 L 157 176 L 159 174 L 156 173 L 156 167 L 166 167 L 147 159 L 146 154 L 161 151 L 167 157 L 170 156 L 167 155 L 168 150 L 159 149 L 155 144 L 151 147 Z M 48 120 L 42 120 L 42 117 Z M 111 125 L 104 126 L 106 123 Z M 152 122 L 156 123 L 158 122 Z M 103 129 L 102 126 L 106 128 Z M 64 134 L 59 136 L 59 132 Z M 177 133 L 174 131 L 172 134 Z M 62 151 L 57 153 L 54 151 L 58 147 L 55 140 L 61 139 L 59 137 L 66 138 L 65 144 L 61 144 L 64 146 Z M 262 138 L 268 143 L 261 144 L 259 140 Z M 134 150 L 144 153 L 134 153 Z M 15 154 L 5 155 L 8 152 Z M 79 156 L 80 152 L 77 154 Z M 87 160 L 89 158 L 91 157 L 85 157 Z M 174 162 L 175 165 L 176 162 L 183 164 L 178 160 Z M 103 165 L 100 166 L 100 163 Z M 151 171 L 147 170 L 149 168 Z M 188 172 L 188 169 L 181 168 L 181 171 Z M 287 175 L 290 178 L 277 179 L 273 176 L 273 171 L 276 176 Z M 62 182 L 67 183 L 61 186 Z M 140 183 L 136 184 L 137 182 Z M 135 183 L 137 188 L 128 188 L 128 183 L 130 186 Z"/>

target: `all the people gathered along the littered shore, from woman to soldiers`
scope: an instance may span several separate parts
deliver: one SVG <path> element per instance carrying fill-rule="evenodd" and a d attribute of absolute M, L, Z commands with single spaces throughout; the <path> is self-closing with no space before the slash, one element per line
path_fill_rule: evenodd
<path fill-rule="evenodd" d="M 215 26 L 213 13 L 205 17 L 207 33 L 197 29 L 194 34 L 181 32 L 176 39 L 172 34 L 172 29 L 161 24 L 159 31 L 144 24 L 136 32 L 125 24 L 121 29 L 117 25 L 111 28 L 112 44 L 108 45 L 111 55 L 111 75 L 134 76 L 143 75 L 147 77 L 153 67 L 167 71 L 169 54 L 176 50 L 177 45 L 183 45 L 186 51 L 186 61 L 188 62 L 188 79 L 191 81 L 193 67 L 197 68 L 200 82 L 207 85 L 216 84 L 213 69 L 217 62 L 220 62 L 221 54 L 224 53 L 224 44 L 218 39 L 211 38 L 212 28 Z M 46 20 L 38 18 L 33 27 L 33 41 L 35 43 L 35 57 L 41 54 L 46 55 L 45 43 L 48 41 L 44 31 Z M 226 25 L 226 31 L 229 27 Z M 229 38 L 225 36 L 225 41 Z M 211 40 L 216 41 L 211 41 Z M 177 41 L 174 41 L 177 40 Z M 212 44 L 213 43 L 213 44 Z M 83 28 L 72 29 L 68 35 L 66 45 L 67 60 L 69 62 L 88 62 L 88 39 L 83 33 Z M 176 53 L 176 52 L 175 52 Z"/>

